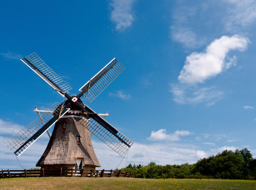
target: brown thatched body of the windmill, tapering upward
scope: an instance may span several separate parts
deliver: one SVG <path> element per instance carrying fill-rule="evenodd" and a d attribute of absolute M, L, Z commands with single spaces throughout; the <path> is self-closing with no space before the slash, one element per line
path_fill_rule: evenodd
<path fill-rule="evenodd" d="M 36 166 L 42 168 L 74 168 L 76 158 L 83 158 L 84 169 L 100 167 L 98 158 L 92 147 L 88 123 L 82 126 L 77 119 L 61 118 L 56 122 L 51 139 Z M 62 132 L 63 124 L 67 123 L 66 131 Z M 80 136 L 80 144 L 76 143 Z"/>

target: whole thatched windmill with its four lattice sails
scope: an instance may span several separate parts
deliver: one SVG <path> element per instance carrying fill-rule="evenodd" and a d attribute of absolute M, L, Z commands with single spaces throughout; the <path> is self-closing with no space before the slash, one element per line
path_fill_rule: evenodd
<path fill-rule="evenodd" d="M 56 102 L 47 110 L 37 110 L 39 117 L 5 143 L 18 157 L 54 124 L 52 136 L 36 166 L 41 168 L 95 169 L 100 167 L 93 150 L 91 136 L 95 135 L 123 156 L 133 142 L 114 128 L 90 107 L 81 96 L 92 102 L 125 68 L 115 58 L 82 86 L 78 95 L 44 61 L 32 53 L 21 59 L 39 77 L 67 99 Z M 39 112 L 43 112 L 39 114 Z M 48 131 L 47 131 L 48 133 Z M 49 135 L 49 133 L 48 133 Z M 49 135 L 50 136 L 50 135 Z"/>

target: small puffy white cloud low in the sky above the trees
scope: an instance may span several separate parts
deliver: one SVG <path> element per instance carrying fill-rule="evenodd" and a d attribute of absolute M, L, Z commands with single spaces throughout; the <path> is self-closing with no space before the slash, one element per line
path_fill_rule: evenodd
<path fill-rule="evenodd" d="M 166 134 L 166 129 L 159 129 L 158 131 L 152 131 L 151 135 L 147 139 L 151 141 L 179 141 L 180 136 L 190 134 L 191 132 L 185 130 L 177 130 L 172 134 Z"/>

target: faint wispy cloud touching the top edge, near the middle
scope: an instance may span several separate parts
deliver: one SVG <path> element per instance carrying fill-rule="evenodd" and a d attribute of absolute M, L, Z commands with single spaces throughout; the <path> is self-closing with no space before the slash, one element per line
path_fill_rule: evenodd
<path fill-rule="evenodd" d="M 111 21 L 116 23 L 116 30 L 124 30 L 132 25 L 132 4 L 134 0 L 112 0 L 110 5 L 114 8 L 111 12 Z"/>

